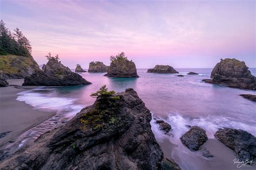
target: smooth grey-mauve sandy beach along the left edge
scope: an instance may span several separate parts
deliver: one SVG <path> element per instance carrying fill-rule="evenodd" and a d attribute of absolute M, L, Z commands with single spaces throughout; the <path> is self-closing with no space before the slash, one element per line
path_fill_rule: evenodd
<path fill-rule="evenodd" d="M 23 81 L 23 79 L 9 80 L 10 87 L 0 88 L 0 134 L 9 132 L 0 138 L 0 150 L 10 141 L 15 141 L 24 131 L 33 128 L 56 114 L 53 111 L 36 110 L 25 102 L 17 101 L 17 93 L 35 88 L 17 88 L 17 86 L 22 85 Z"/>

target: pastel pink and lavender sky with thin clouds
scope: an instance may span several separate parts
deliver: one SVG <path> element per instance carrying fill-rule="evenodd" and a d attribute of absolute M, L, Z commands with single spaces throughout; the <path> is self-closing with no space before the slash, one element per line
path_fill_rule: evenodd
<path fill-rule="evenodd" d="M 30 40 L 39 65 L 49 52 L 70 68 L 125 52 L 137 68 L 213 68 L 220 58 L 256 67 L 255 3 L 0 0 L 0 16 Z"/>

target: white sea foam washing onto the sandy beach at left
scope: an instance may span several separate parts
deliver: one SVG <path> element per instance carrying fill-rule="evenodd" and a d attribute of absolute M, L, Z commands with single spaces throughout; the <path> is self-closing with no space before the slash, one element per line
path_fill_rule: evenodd
<path fill-rule="evenodd" d="M 25 102 L 35 109 L 55 110 L 56 115 L 21 134 L 15 143 L 6 147 L 7 151 L 16 151 L 25 143 L 34 141 L 41 134 L 55 128 L 56 125 L 68 122 L 85 107 L 84 105 L 75 104 L 76 99 L 74 98 L 59 97 L 56 89 L 32 89 L 18 93 L 18 95 L 21 95 L 17 97 L 18 101 Z"/>

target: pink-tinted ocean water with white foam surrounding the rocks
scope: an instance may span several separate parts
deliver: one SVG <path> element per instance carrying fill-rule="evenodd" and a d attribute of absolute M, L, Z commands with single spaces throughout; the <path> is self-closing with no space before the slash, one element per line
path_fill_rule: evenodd
<path fill-rule="evenodd" d="M 126 88 L 136 90 L 152 112 L 152 116 L 164 119 L 172 126 L 172 136 L 166 136 L 152 119 L 151 126 L 156 139 L 159 143 L 161 140 L 169 140 L 170 143 L 180 146 L 184 154 L 194 154 L 188 152 L 179 139 L 188 130 L 186 125 L 200 126 L 206 130 L 208 138 L 214 138 L 213 135 L 218 128 L 223 127 L 246 130 L 256 136 L 256 104 L 239 96 L 256 95 L 256 91 L 202 82 L 201 80 L 210 78 L 211 68 L 177 69 L 184 77 L 175 76 L 177 74 L 146 73 L 146 70 L 137 69 L 139 78 L 112 78 L 103 76 L 105 73 L 82 73 L 80 75 L 92 84 L 39 87 L 19 93 L 18 101 L 26 102 L 36 109 L 56 110 L 57 115 L 23 134 L 18 147 L 31 138 L 37 138 L 56 124 L 65 123 L 83 107 L 91 105 L 95 98 L 90 94 L 104 85 L 116 92 L 124 91 Z M 250 70 L 256 76 L 256 68 Z M 199 75 L 187 75 L 188 72 L 196 72 Z M 161 147 L 168 150 L 168 147 Z M 176 160 L 176 157 L 182 155 L 172 154 L 172 157 Z M 187 168 L 186 162 L 179 161 L 179 164 L 183 169 L 190 169 Z"/>

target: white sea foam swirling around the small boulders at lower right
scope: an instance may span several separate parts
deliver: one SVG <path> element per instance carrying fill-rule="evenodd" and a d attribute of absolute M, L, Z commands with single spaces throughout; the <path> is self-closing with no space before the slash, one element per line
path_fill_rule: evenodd
<path fill-rule="evenodd" d="M 154 117 L 153 114 L 152 117 Z M 207 116 L 201 118 L 190 118 L 180 115 L 179 113 L 171 113 L 169 114 L 167 119 L 163 120 L 172 126 L 171 133 L 173 134 L 173 137 L 166 136 L 163 132 L 161 132 L 159 130 L 159 125 L 156 124 L 156 121 L 153 118 L 151 120 L 152 131 L 154 132 L 158 140 L 168 137 L 171 138 L 171 141 L 174 144 L 180 144 L 179 138 L 189 130 L 186 125 L 197 125 L 203 128 L 204 130 L 206 130 L 208 138 L 214 138 L 214 134 L 219 128 L 242 129 L 253 134 L 254 136 L 256 135 L 253 123 L 246 124 L 237 120 L 233 120 L 230 117 Z"/>

